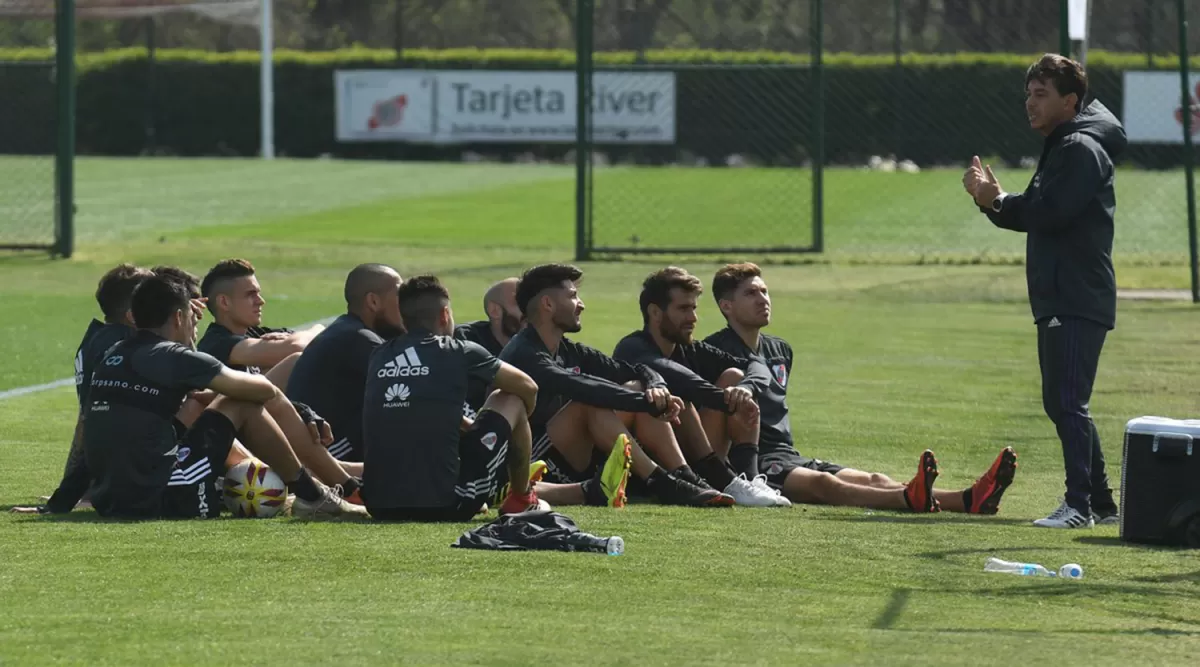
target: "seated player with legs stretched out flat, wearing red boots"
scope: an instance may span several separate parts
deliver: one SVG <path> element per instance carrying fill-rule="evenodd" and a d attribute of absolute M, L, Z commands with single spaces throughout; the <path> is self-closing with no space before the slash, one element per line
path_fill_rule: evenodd
<path fill-rule="evenodd" d="M 797 503 L 851 505 L 884 510 L 941 510 L 994 515 L 1016 473 L 1016 453 L 1004 447 L 984 476 L 964 491 L 934 491 L 937 459 L 926 450 L 907 485 L 880 473 L 864 473 L 802 456 L 788 421 L 787 381 L 792 348 L 762 334 L 770 324 L 770 295 L 755 264 L 727 264 L 713 278 L 713 298 L 728 326 L 706 342 L 734 356 L 758 356 L 772 372 L 769 389 L 758 396 L 758 469 L 767 481 Z"/>

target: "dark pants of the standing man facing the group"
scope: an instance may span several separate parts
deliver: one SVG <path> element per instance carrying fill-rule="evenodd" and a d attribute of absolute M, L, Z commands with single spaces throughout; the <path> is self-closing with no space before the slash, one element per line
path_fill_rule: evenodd
<path fill-rule="evenodd" d="M 1087 516 L 1111 510 L 1100 437 L 1087 411 L 1108 330 L 1091 320 L 1050 318 L 1038 323 L 1042 405 L 1058 429 L 1067 467 L 1067 504 Z"/>

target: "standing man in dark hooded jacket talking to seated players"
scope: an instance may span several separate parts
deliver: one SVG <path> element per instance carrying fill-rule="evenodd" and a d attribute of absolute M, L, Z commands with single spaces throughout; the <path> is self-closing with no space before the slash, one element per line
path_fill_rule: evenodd
<path fill-rule="evenodd" d="M 962 185 L 996 227 L 1024 232 L 1030 306 L 1038 328 L 1042 404 L 1058 431 L 1067 494 L 1034 521 L 1043 528 L 1116 523 L 1117 506 L 1087 403 L 1104 337 L 1116 323 L 1112 160 L 1124 128 L 1099 102 L 1086 107 L 1087 74 L 1048 54 L 1025 74 L 1030 126 L 1045 137 L 1033 180 L 1007 193 L 976 157 Z"/>

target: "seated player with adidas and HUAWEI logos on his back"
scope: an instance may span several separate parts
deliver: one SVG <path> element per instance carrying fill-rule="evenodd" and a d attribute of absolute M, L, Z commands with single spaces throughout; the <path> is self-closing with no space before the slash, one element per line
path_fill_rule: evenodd
<path fill-rule="evenodd" d="M 500 513 L 546 506 L 529 481 L 529 414 L 538 385 L 454 334 L 450 293 L 433 276 L 398 289 L 407 334 L 371 355 L 364 489 L 384 521 L 469 521 L 505 481 Z M 497 387 L 463 429 L 468 380 Z"/>

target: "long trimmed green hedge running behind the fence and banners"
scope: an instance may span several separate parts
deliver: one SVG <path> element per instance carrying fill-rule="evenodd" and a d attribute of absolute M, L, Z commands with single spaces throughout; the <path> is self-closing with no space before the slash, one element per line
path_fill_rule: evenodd
<path fill-rule="evenodd" d="M 1010 162 L 1034 156 L 1039 140 L 1025 124 L 1021 82 L 1037 55 L 907 54 L 896 67 L 886 54 L 827 54 L 827 160 L 860 163 L 870 155 L 895 154 L 936 164 L 961 163 L 972 154 Z M 152 143 L 176 155 L 254 155 L 259 145 L 258 58 L 257 52 L 158 50 L 151 67 L 145 49 L 79 54 L 79 152 L 137 155 Z M 42 136 L 29 128 L 47 124 L 49 82 L 44 74 L 29 73 L 44 68 L 12 64 L 52 59 L 49 49 L 0 49 L 0 82 L 8 100 L 2 112 L 6 122 L 0 124 L 0 151 L 28 146 L 29 137 Z M 1193 60 L 1200 70 L 1200 56 Z M 598 67 L 635 61 L 634 53 L 595 56 Z M 815 104 L 808 61 L 806 55 L 772 52 L 648 52 L 644 62 L 649 66 L 692 66 L 677 74 L 678 142 L 604 150 L 649 162 L 677 160 L 680 151 L 710 162 L 733 152 L 773 164 L 803 162 L 812 152 L 809 128 Z M 275 64 L 276 144 L 286 155 L 451 158 L 464 148 L 558 155 L 570 148 L 338 144 L 332 90 L 332 72 L 338 68 L 569 70 L 575 64 L 569 50 L 415 49 L 404 52 L 403 60 L 390 49 L 280 50 Z M 770 67 L 781 65 L 794 67 Z M 1156 56 L 1152 65 L 1170 70 L 1177 60 Z M 1127 68 L 1146 68 L 1146 56 L 1088 54 L 1092 90 L 1118 115 Z M 151 120 L 152 137 L 148 133 Z M 1138 146 L 1129 158 L 1168 166 L 1177 152 Z"/>

